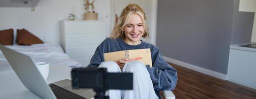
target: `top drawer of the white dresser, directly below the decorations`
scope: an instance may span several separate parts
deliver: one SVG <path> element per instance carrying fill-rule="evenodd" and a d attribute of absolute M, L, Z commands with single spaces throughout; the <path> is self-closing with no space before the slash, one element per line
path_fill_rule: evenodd
<path fill-rule="evenodd" d="M 92 34 L 106 32 L 105 22 L 98 21 L 65 21 L 65 34 Z"/>

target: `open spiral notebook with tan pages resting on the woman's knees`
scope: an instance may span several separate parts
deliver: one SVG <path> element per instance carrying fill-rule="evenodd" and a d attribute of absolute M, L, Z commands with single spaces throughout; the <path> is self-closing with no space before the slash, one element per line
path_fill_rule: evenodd
<path fill-rule="evenodd" d="M 151 51 L 150 49 L 131 49 L 104 53 L 105 61 L 118 61 L 123 58 L 135 59 L 137 57 L 142 57 L 138 61 L 144 63 L 144 65 L 149 65 L 152 67 Z"/>

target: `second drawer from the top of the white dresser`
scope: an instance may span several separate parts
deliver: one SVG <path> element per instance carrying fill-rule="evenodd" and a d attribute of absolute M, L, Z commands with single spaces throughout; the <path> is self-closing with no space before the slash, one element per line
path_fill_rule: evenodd
<path fill-rule="evenodd" d="M 66 47 L 99 45 L 105 40 L 105 34 L 87 34 L 87 35 L 66 35 Z"/>

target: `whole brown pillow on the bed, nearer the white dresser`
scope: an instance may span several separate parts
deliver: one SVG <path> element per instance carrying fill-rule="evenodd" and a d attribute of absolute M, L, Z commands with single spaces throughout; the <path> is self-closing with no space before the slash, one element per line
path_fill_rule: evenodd
<path fill-rule="evenodd" d="M 26 29 L 17 29 L 16 43 L 18 45 L 30 46 L 33 44 L 43 44 L 44 42 Z"/>

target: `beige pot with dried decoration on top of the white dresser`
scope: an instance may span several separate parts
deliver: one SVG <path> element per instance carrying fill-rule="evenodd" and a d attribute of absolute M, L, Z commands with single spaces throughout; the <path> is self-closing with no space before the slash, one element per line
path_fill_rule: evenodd
<path fill-rule="evenodd" d="M 98 13 L 94 11 L 94 1 L 95 0 L 89 3 L 89 0 L 84 0 L 84 6 L 86 11 L 84 13 L 84 20 L 98 20 Z"/>

